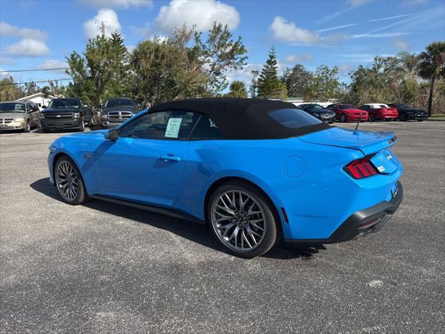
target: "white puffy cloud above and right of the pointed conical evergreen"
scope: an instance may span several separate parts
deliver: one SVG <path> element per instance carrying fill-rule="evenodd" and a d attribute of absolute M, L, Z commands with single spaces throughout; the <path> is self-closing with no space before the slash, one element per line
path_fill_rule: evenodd
<path fill-rule="evenodd" d="M 299 42 L 307 45 L 320 42 L 318 33 L 298 28 L 295 23 L 288 22 L 281 16 L 274 17 L 269 29 L 272 31 L 273 38 L 282 42 Z"/>

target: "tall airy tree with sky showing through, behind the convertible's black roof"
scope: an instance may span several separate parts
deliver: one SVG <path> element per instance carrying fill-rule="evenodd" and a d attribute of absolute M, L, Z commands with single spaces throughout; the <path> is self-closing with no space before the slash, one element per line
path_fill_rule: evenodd
<path fill-rule="evenodd" d="M 195 47 L 200 52 L 202 68 L 207 73 L 207 90 L 212 95 L 227 88 L 225 72 L 242 69 L 248 58 L 241 36 L 232 40 L 227 24 L 213 22 L 206 42 L 202 42 L 201 33 L 195 32 Z"/>

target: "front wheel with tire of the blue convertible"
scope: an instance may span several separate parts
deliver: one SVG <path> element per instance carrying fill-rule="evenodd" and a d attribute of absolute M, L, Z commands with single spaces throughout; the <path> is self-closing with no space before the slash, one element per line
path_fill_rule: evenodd
<path fill-rule="evenodd" d="M 54 182 L 63 202 L 79 205 L 88 200 L 82 175 L 70 157 L 63 155 L 54 165 Z"/>

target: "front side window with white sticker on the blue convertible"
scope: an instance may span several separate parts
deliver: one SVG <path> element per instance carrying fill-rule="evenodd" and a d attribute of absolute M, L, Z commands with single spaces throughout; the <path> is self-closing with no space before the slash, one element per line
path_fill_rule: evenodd
<path fill-rule="evenodd" d="M 136 118 L 120 131 L 121 137 L 184 141 L 197 119 L 185 111 L 160 111 Z"/>

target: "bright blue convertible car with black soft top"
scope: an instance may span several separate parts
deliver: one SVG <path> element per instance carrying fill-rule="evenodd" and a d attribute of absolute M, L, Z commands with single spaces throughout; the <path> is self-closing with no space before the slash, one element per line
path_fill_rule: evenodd
<path fill-rule="evenodd" d="M 165 102 L 118 129 L 58 138 L 49 175 L 63 200 L 98 198 L 209 225 L 241 257 L 277 241 L 375 232 L 403 197 L 392 132 L 339 129 L 261 99 Z"/>

